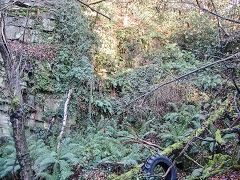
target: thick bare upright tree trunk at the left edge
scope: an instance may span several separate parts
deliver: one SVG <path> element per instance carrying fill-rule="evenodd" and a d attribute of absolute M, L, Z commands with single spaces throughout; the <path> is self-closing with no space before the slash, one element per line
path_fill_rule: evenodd
<path fill-rule="evenodd" d="M 21 59 L 16 56 L 12 59 L 10 51 L 7 46 L 5 38 L 5 23 L 3 14 L 1 14 L 0 21 L 0 53 L 3 58 L 4 68 L 7 78 L 7 86 L 9 97 L 11 98 L 11 113 L 10 121 L 13 128 L 13 138 L 15 142 L 17 160 L 20 164 L 21 179 L 32 180 L 33 171 L 31 166 L 30 154 L 27 146 L 27 140 L 25 136 L 25 122 L 22 113 L 22 94 L 20 86 L 20 72 L 23 69 L 20 68 Z M 17 66 L 18 64 L 18 66 Z"/>

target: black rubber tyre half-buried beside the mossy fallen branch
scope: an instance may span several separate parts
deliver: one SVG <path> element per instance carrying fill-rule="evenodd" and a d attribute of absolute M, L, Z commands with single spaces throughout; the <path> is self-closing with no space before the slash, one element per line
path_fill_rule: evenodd
<path fill-rule="evenodd" d="M 168 159 L 166 156 L 160 156 L 160 155 L 157 154 L 155 156 L 149 157 L 146 160 L 146 162 L 142 166 L 142 170 L 145 173 L 150 174 L 150 176 L 154 176 L 154 169 L 157 166 L 162 167 L 163 170 L 166 172 L 171 165 L 172 165 L 172 161 L 170 159 Z M 149 177 L 149 178 L 146 178 L 146 179 L 156 180 L 158 178 L 157 177 Z M 165 179 L 167 179 L 167 180 L 177 180 L 177 173 L 176 173 L 176 169 L 175 169 L 174 166 L 171 168 L 171 170 L 169 171 L 169 173 L 167 174 Z"/>

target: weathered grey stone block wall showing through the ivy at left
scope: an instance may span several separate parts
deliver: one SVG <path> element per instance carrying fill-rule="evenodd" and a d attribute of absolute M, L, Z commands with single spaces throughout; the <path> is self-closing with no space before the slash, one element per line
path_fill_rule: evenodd
<path fill-rule="evenodd" d="M 8 6 L 6 11 L 6 37 L 9 41 L 23 40 L 25 32 L 25 42 L 42 43 L 45 41 L 46 34 L 49 37 L 55 28 L 55 18 L 53 16 L 54 5 L 59 2 L 56 0 L 20 0 L 12 4 L 11 0 L 1 0 L 0 9 Z M 29 11 L 29 13 L 28 13 Z M 29 17 L 29 18 L 28 18 Z M 3 60 L 0 55 L 0 137 L 9 136 L 9 107 L 10 103 L 6 100 L 6 88 L 4 84 Z M 55 108 L 59 101 L 55 103 Z M 31 104 L 31 98 L 29 102 Z M 30 115 L 28 125 L 46 128 L 48 125 L 42 121 L 43 109 L 37 107 L 38 111 Z"/>

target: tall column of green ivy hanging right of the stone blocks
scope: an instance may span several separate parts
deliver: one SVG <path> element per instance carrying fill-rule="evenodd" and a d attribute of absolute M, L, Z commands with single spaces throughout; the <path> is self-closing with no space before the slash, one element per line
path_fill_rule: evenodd
<path fill-rule="evenodd" d="M 79 107 L 88 107 L 93 99 L 90 93 L 91 83 L 95 79 L 92 50 L 93 45 L 97 44 L 97 37 L 89 29 L 89 20 L 80 5 L 74 1 L 57 6 L 56 23 L 54 39 L 59 48 L 58 56 L 52 63 L 54 92 L 62 96 L 73 88 L 70 115 L 76 117 L 81 114 L 77 119 L 83 120 L 88 112 Z"/>

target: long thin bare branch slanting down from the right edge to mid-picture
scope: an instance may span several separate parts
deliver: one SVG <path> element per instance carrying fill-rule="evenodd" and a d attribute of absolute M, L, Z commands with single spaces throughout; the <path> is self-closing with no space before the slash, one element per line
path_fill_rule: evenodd
<path fill-rule="evenodd" d="M 231 56 L 229 56 L 229 57 L 227 57 L 227 58 L 224 58 L 224 59 L 221 59 L 221 60 L 214 61 L 214 62 L 212 62 L 212 63 L 206 64 L 206 65 L 204 65 L 204 66 L 202 66 L 202 67 L 200 67 L 200 68 L 197 68 L 197 69 L 195 69 L 195 70 L 193 70 L 193 71 L 190 71 L 190 72 L 188 72 L 188 73 L 186 73 L 186 74 L 184 74 L 184 75 L 182 75 L 182 76 L 179 76 L 179 77 L 177 77 L 177 78 L 175 78 L 175 79 L 173 79 L 173 80 L 171 80 L 171 81 L 168 81 L 168 82 L 165 82 L 165 83 L 163 83 L 163 84 L 160 84 L 160 85 L 158 85 L 157 87 L 155 87 L 154 89 L 152 89 L 151 91 L 149 91 L 149 92 L 147 92 L 147 93 L 145 93 L 145 94 L 143 94 L 143 95 L 141 95 L 141 96 L 133 99 L 132 101 L 130 101 L 127 105 L 125 105 L 125 108 L 126 108 L 127 106 L 129 106 L 130 104 L 132 104 L 133 102 L 138 101 L 139 99 L 141 99 L 141 98 L 143 98 L 143 97 L 146 97 L 146 96 L 151 95 L 153 92 L 155 92 L 156 90 L 158 90 L 159 88 L 161 88 L 161 87 L 163 87 L 163 86 L 165 86 L 165 85 L 168 85 L 168 84 L 171 84 L 171 83 L 173 83 L 173 82 L 175 82 L 175 81 L 178 81 L 178 80 L 180 80 L 180 79 L 183 79 L 183 78 L 185 78 L 185 77 L 187 77 L 187 76 L 189 76 L 189 75 L 191 75 L 191 74 L 193 74 L 193 73 L 199 72 L 199 71 L 201 71 L 201 70 L 203 70 L 203 69 L 206 69 L 206 68 L 208 68 L 208 67 L 210 67 L 210 66 L 213 66 L 213 65 L 215 65 L 215 64 L 219 64 L 219 63 L 222 63 L 222 62 L 225 62 L 225 61 L 232 60 L 233 58 L 239 58 L 239 57 L 240 57 L 240 52 L 239 52 L 239 53 L 236 53 L 236 54 L 233 54 L 233 55 L 231 55 Z"/>

